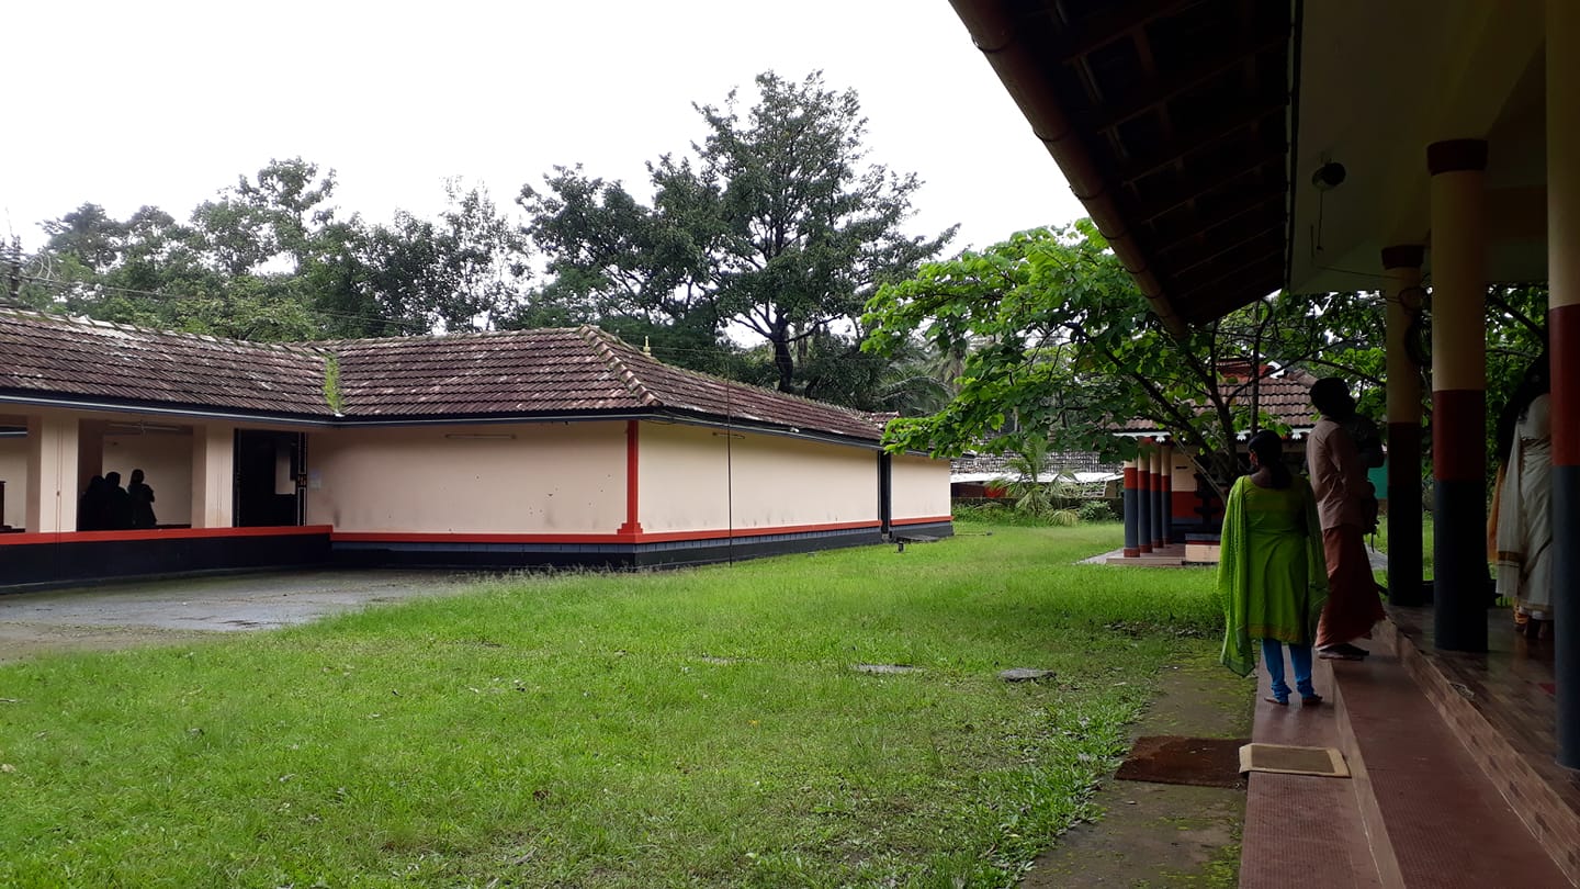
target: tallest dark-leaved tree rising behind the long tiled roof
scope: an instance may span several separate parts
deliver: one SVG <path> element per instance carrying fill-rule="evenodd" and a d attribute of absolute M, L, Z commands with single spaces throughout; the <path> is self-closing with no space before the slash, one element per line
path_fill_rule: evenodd
<path fill-rule="evenodd" d="M 757 92 L 744 114 L 736 92 L 722 108 L 695 106 L 706 136 L 695 157 L 648 165 L 651 204 L 561 168 L 544 191 L 523 188 L 521 206 L 561 305 L 714 339 L 738 324 L 766 342 L 779 389 L 834 395 L 830 381 L 848 375 L 809 375 L 809 356 L 860 362 L 863 304 L 954 229 L 902 231 L 920 182 L 867 163 L 855 90 L 831 90 L 820 73 L 799 82 L 765 73 Z M 850 348 L 830 350 L 831 337 Z"/>

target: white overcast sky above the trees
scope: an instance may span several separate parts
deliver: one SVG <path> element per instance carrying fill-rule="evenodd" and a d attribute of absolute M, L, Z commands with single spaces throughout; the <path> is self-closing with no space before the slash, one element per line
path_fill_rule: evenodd
<path fill-rule="evenodd" d="M 645 191 L 766 70 L 855 89 L 869 160 L 916 172 L 915 234 L 951 253 L 1081 215 L 946 0 L 11 3 L 0 234 L 85 201 L 185 218 L 270 158 L 333 168 L 333 202 L 433 215 L 444 180 L 514 209 L 555 165 Z"/>

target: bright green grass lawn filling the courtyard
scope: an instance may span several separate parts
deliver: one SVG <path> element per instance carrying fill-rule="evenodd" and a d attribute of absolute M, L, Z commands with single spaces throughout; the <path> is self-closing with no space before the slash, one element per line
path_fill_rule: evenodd
<path fill-rule="evenodd" d="M 0 886 L 1011 886 L 1220 617 L 959 530 L 3 666 Z"/>

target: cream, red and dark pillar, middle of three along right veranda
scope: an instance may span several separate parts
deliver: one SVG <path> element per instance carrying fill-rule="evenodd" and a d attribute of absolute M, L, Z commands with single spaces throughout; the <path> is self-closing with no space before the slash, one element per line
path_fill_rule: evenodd
<path fill-rule="evenodd" d="M 1427 146 L 1431 172 L 1435 641 L 1487 650 L 1487 142 Z"/>

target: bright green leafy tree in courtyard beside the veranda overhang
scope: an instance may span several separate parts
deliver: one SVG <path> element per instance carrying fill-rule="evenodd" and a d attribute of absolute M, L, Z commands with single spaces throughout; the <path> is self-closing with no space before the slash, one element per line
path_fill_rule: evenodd
<path fill-rule="evenodd" d="M 1226 487 L 1240 471 L 1232 443 L 1251 426 L 1253 399 L 1251 383 L 1226 378 L 1218 364 L 1243 361 L 1273 321 L 1302 313 L 1310 310 L 1296 301 L 1256 305 L 1176 337 L 1081 220 L 926 263 L 912 280 L 883 286 L 867 304 L 866 348 L 891 353 L 921 337 L 965 354 L 943 410 L 890 424 L 894 448 L 957 454 L 1024 430 L 1060 451 L 1123 452 L 1130 444 L 1111 430 L 1144 418 Z"/>

